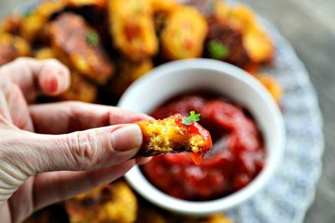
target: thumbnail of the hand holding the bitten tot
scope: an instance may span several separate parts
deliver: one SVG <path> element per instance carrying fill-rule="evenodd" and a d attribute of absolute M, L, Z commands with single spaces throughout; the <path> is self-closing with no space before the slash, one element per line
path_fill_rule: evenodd
<path fill-rule="evenodd" d="M 111 133 L 111 140 L 115 151 L 138 150 L 142 145 L 142 132 L 135 124 L 125 125 Z"/>

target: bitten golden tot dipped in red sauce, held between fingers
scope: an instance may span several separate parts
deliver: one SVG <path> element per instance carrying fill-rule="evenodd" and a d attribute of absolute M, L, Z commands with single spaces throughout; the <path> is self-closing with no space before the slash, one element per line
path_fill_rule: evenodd
<path fill-rule="evenodd" d="M 209 132 L 197 122 L 184 124 L 186 119 L 176 114 L 163 120 L 136 122 L 143 134 L 143 144 L 136 158 L 188 152 L 194 162 L 199 164 L 212 148 L 212 140 Z"/>

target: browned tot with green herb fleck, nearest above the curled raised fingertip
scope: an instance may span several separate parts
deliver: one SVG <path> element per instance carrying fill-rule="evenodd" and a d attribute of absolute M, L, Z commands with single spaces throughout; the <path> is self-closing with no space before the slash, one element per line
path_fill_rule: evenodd
<path fill-rule="evenodd" d="M 60 15 L 51 23 L 49 33 L 52 46 L 79 73 L 98 84 L 106 83 L 113 75 L 114 66 L 101 46 L 99 34 L 81 16 Z"/>

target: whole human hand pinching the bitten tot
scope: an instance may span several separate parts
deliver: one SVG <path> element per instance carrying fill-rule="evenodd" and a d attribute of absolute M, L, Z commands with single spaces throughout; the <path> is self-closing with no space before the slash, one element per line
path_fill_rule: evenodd
<path fill-rule="evenodd" d="M 107 184 L 135 163 L 142 134 L 126 123 L 148 116 L 81 102 L 26 102 L 68 86 L 68 69 L 55 60 L 25 58 L 0 67 L 3 223 L 22 222 L 36 209 Z"/>

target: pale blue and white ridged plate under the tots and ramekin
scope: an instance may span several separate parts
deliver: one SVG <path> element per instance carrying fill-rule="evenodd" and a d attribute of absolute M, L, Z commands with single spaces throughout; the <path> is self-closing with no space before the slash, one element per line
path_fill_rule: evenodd
<path fill-rule="evenodd" d="M 36 2 L 30 1 L 15 11 L 32 10 Z M 314 200 L 322 170 L 321 111 L 308 72 L 294 49 L 267 20 L 261 20 L 276 46 L 273 65 L 262 71 L 275 76 L 284 89 L 286 149 L 268 186 L 226 214 L 236 223 L 302 223 Z"/>

